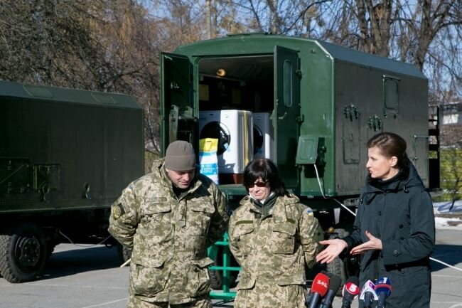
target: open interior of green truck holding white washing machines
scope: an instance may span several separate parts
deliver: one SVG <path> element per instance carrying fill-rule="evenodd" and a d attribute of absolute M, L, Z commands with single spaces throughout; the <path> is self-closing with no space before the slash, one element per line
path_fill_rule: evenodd
<path fill-rule="evenodd" d="M 203 58 L 199 139 L 218 139 L 220 184 L 240 184 L 245 165 L 274 153 L 273 55 Z"/>

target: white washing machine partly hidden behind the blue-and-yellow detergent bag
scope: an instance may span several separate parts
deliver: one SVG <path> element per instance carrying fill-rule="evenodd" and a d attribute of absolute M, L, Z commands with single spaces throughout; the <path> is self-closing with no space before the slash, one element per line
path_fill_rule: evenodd
<path fill-rule="evenodd" d="M 218 174 L 244 172 L 254 153 L 252 125 L 252 112 L 246 110 L 199 112 L 199 138 L 218 139 Z"/>

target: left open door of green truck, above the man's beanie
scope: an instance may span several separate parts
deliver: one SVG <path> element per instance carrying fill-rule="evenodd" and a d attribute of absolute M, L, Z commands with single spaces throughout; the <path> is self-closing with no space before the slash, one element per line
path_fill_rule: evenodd
<path fill-rule="evenodd" d="M 185 55 L 161 53 L 161 154 L 168 144 L 186 140 L 196 144 L 193 65 Z"/>

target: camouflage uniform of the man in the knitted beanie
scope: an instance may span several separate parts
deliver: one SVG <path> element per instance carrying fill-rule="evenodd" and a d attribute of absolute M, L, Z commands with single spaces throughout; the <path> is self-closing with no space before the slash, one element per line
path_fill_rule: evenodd
<path fill-rule="evenodd" d="M 225 195 L 198 171 L 178 198 L 163 159 L 129 184 L 109 218 L 109 233 L 133 250 L 129 307 L 212 307 L 207 245 L 222 238 L 228 219 Z"/>

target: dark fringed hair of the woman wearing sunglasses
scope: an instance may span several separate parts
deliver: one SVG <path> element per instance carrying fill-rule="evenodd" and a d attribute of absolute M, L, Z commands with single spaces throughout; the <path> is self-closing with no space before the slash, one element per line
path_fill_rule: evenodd
<path fill-rule="evenodd" d="M 249 185 L 254 184 L 259 178 L 268 182 L 269 188 L 271 188 L 272 192 L 276 193 L 276 196 L 289 196 L 286 186 L 281 181 L 279 171 L 271 160 L 254 159 L 247 164 L 244 169 L 243 183 L 247 192 L 249 191 Z"/>

